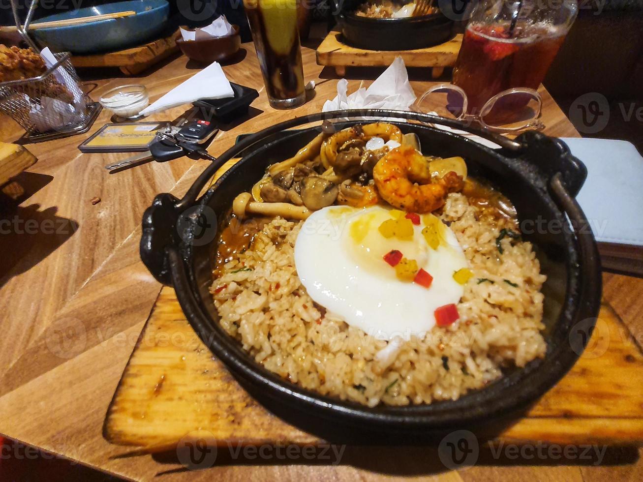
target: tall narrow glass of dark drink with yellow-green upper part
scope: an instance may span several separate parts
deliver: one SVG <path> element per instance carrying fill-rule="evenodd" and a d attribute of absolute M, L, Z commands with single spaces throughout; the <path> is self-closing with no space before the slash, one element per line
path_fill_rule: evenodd
<path fill-rule="evenodd" d="M 244 0 L 268 101 L 292 109 L 306 100 L 297 0 Z"/>

